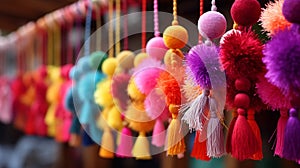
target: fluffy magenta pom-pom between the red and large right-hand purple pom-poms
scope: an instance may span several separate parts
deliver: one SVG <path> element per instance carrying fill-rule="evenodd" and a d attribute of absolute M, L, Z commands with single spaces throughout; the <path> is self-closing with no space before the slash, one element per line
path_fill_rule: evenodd
<path fill-rule="evenodd" d="M 282 94 L 278 87 L 271 84 L 264 76 L 261 75 L 259 77 L 256 87 L 259 97 L 265 104 L 271 107 L 272 110 L 291 108 L 289 99 Z"/>

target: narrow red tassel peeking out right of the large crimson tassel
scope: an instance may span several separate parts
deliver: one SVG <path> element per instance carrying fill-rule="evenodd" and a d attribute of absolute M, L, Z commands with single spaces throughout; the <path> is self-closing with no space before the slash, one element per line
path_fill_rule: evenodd
<path fill-rule="evenodd" d="M 259 150 L 251 157 L 252 160 L 262 160 L 263 158 L 263 153 L 262 153 L 262 140 L 261 140 L 261 135 L 260 135 L 260 130 L 259 127 L 255 121 L 255 111 L 254 110 L 249 110 L 248 111 L 248 123 L 250 127 L 252 128 L 252 131 L 257 139 Z"/>

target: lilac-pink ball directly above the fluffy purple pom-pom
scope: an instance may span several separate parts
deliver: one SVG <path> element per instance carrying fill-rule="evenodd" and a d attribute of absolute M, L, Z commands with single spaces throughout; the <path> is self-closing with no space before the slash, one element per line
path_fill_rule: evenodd
<path fill-rule="evenodd" d="M 226 24 L 226 19 L 221 13 L 208 11 L 200 16 L 198 30 L 203 37 L 213 40 L 225 33 Z"/>

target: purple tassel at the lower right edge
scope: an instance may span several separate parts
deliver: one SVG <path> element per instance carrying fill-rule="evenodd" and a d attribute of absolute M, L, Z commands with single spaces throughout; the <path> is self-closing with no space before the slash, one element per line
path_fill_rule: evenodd
<path fill-rule="evenodd" d="M 294 108 L 290 109 L 290 117 L 287 121 L 285 134 L 283 157 L 293 161 L 300 160 L 300 120 L 298 111 Z"/>

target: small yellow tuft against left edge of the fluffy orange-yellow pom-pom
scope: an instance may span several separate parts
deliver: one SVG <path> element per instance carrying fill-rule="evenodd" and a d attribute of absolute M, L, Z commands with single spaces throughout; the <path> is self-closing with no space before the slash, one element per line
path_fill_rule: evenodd
<path fill-rule="evenodd" d="M 110 127 L 121 130 L 123 127 L 121 113 L 116 106 L 108 112 L 107 123 Z"/>

